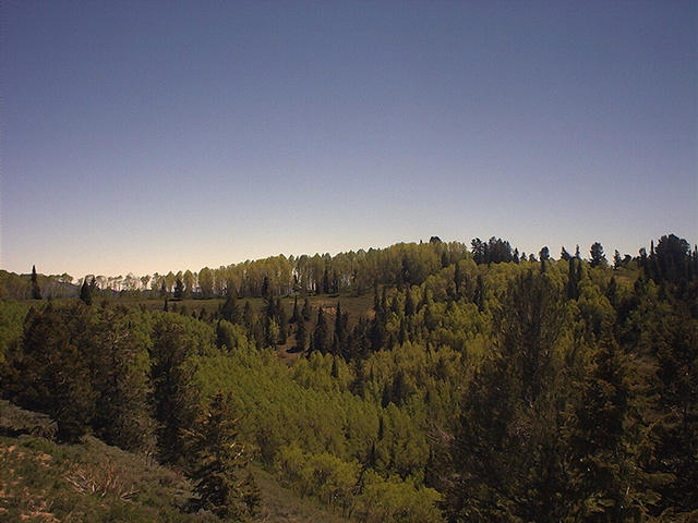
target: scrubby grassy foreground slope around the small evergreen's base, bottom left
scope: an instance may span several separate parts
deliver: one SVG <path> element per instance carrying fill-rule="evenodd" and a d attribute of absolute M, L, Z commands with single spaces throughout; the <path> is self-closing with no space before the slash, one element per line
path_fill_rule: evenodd
<path fill-rule="evenodd" d="M 348 521 L 282 488 L 261 467 L 254 466 L 253 474 L 262 494 L 254 521 Z M 71 446 L 29 436 L 0 438 L 0 521 L 219 521 L 206 513 L 181 512 L 191 495 L 192 485 L 180 473 L 93 437 Z"/>

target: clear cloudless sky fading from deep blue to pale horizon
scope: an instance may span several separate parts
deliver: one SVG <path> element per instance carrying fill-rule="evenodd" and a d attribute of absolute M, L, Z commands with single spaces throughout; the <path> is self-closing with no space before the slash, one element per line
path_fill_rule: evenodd
<path fill-rule="evenodd" d="M 698 2 L 0 3 L 0 268 L 698 242 Z M 588 255 L 588 254 L 587 254 Z"/>

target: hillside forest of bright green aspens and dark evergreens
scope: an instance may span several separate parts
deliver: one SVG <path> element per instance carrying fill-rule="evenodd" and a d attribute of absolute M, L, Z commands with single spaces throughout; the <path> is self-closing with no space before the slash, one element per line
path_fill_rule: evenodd
<path fill-rule="evenodd" d="M 1 392 L 183 474 L 181 521 L 260 518 L 251 462 L 356 521 L 694 521 L 698 253 L 611 258 L 433 238 L 56 300 L 4 273 Z"/>

